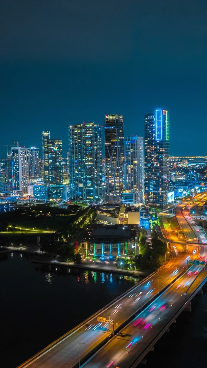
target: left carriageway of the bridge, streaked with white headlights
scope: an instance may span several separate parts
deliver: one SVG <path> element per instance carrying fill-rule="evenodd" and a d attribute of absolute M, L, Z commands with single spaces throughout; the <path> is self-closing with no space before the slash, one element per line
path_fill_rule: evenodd
<path fill-rule="evenodd" d="M 85 321 L 83 325 L 72 330 L 72 332 L 69 332 L 60 341 L 45 348 L 42 353 L 38 353 L 34 358 L 21 364 L 19 367 L 50 368 L 57 363 L 59 368 L 66 366 L 67 368 L 73 367 L 78 362 L 78 343 L 84 343 L 84 345 L 81 345 L 80 353 L 80 358 L 84 358 L 93 348 L 97 347 L 99 343 L 102 343 L 109 336 L 109 324 L 104 326 L 104 323 L 102 323 L 99 325 L 99 328 L 97 316 L 105 317 L 108 320 L 110 316 L 110 320 L 115 320 L 115 328 L 122 325 L 122 323 L 126 323 L 127 319 L 134 315 L 140 307 L 138 300 L 134 303 L 131 302 L 132 300 L 134 301 L 134 296 L 138 298 L 139 295 L 143 295 L 141 301 L 142 306 L 144 306 L 146 302 L 149 302 L 156 296 L 158 291 L 175 279 L 176 273 L 178 275 L 183 271 L 183 267 L 187 266 L 186 257 L 188 255 L 182 253 L 172 258 L 171 261 L 166 263 L 153 276 L 148 277 L 147 281 L 140 283 L 125 293 L 118 301 L 112 302 L 101 313 L 95 314 Z M 152 292 L 147 294 L 150 290 Z"/>

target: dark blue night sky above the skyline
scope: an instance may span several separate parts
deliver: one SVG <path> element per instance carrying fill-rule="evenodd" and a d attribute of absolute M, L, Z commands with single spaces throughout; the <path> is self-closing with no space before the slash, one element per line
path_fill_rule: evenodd
<path fill-rule="evenodd" d="M 170 154 L 207 155 L 206 0 L 0 0 L 1 144 L 124 116 L 170 116 Z M 2 36 L 3 35 L 3 36 Z M 0 145 L 0 158 L 6 148 Z"/>

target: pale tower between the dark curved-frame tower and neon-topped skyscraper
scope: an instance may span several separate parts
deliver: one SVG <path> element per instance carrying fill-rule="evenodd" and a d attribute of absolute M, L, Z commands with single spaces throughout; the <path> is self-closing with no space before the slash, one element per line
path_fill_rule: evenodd
<path fill-rule="evenodd" d="M 143 137 L 125 137 L 124 189 L 133 193 L 133 204 L 144 202 L 144 148 Z"/>

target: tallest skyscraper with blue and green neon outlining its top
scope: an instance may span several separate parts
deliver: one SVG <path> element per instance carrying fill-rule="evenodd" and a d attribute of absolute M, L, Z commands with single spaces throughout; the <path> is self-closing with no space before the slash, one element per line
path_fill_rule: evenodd
<path fill-rule="evenodd" d="M 168 203 L 169 114 L 158 109 L 144 116 L 145 202 L 165 208 Z"/>

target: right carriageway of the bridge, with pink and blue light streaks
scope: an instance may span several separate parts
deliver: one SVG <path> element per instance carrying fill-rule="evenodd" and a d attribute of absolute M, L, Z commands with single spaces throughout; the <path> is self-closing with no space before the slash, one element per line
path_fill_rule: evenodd
<path fill-rule="evenodd" d="M 136 367 L 145 352 L 148 352 L 150 344 L 162 335 L 165 327 L 186 306 L 194 291 L 207 277 L 202 269 L 201 266 L 192 266 L 81 367 Z M 131 303 L 135 298 L 131 298 Z"/>

